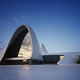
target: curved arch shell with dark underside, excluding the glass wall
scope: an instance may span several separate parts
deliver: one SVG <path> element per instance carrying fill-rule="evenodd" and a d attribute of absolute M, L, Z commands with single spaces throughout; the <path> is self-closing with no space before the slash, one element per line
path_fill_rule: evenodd
<path fill-rule="evenodd" d="M 41 60 L 41 61 L 43 60 L 42 55 L 40 53 L 39 43 L 34 31 L 28 25 L 21 25 L 16 30 L 14 30 L 12 36 L 9 39 L 9 42 L 7 42 L 7 44 L 5 45 L 5 48 L 0 52 L 0 61 L 5 57 L 11 58 L 11 57 L 18 56 L 21 43 L 25 35 L 27 35 L 27 33 L 30 34 L 31 43 L 32 43 L 32 53 L 31 53 L 32 55 L 30 58 L 35 60 Z"/>

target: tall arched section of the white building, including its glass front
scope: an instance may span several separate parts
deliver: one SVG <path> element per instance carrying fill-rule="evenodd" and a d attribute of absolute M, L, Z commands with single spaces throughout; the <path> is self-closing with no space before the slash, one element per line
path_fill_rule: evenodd
<path fill-rule="evenodd" d="M 21 60 L 24 62 L 26 60 L 43 61 L 36 35 L 27 25 L 19 26 L 12 34 L 5 49 L 0 50 L 1 63 L 16 63 Z"/>

